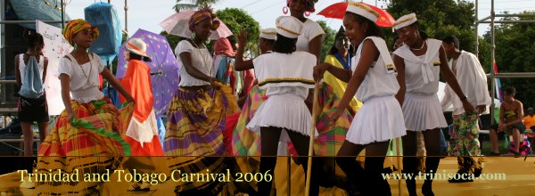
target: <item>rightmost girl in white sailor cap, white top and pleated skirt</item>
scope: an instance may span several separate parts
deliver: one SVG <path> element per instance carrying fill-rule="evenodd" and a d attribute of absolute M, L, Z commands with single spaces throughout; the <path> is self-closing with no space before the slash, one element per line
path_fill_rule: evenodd
<path fill-rule="evenodd" d="M 399 93 L 396 95 L 402 103 L 407 135 L 403 139 L 404 173 L 416 175 L 416 132 L 424 133 L 425 173 L 434 174 L 439 167 L 440 127 L 448 127 L 440 107 L 437 91 L 439 73 L 459 96 L 466 111 L 473 111 L 473 106 L 466 100 L 457 79 L 448 66 L 446 52 L 440 40 L 427 38 L 419 31 L 416 14 L 402 16 L 394 23 L 399 39 L 405 45 L 394 52 L 394 62 L 399 71 Z M 406 180 L 409 195 L 416 195 L 416 181 Z M 432 179 L 428 176 L 422 187 L 424 195 L 434 195 Z"/>

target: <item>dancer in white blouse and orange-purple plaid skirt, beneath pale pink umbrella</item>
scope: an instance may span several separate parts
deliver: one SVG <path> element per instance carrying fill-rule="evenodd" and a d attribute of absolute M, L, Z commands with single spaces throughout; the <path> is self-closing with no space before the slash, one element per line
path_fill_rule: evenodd
<path fill-rule="evenodd" d="M 175 49 L 181 80 L 169 106 L 164 142 L 165 155 L 172 156 L 168 158 L 171 171 L 193 174 L 209 169 L 219 173 L 234 167 L 223 157 L 228 155 L 223 130 L 226 116 L 238 111 L 237 103 L 231 87 L 216 82 L 212 56 L 203 44 L 211 31 L 218 29 L 215 18 L 211 10 L 194 12 L 188 23 L 192 37 L 180 41 Z M 175 192 L 214 195 L 224 185 L 197 181 L 177 184 Z"/>

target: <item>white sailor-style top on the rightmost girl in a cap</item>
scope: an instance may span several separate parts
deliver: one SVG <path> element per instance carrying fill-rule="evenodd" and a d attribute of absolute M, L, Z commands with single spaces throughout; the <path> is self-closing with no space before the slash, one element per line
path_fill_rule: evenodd
<path fill-rule="evenodd" d="M 440 74 L 440 46 L 442 41 L 437 39 L 425 40 L 427 51 L 422 56 L 416 56 L 407 45 L 394 51 L 405 62 L 405 83 L 407 93 L 436 94 L 439 90 Z"/>

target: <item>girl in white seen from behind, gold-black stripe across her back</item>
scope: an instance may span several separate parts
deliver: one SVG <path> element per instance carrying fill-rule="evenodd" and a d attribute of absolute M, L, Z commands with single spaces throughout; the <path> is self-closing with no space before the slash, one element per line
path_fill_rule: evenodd
<path fill-rule="evenodd" d="M 295 51 L 302 29 L 300 20 L 292 16 L 279 17 L 273 53 L 262 54 L 252 61 L 259 88 L 267 89 L 268 95 L 268 100 L 260 105 L 247 125 L 250 130 L 260 132 L 262 174 L 273 176 L 279 141 L 292 142 L 300 156 L 307 156 L 309 136 L 314 136 L 309 135 L 312 117 L 305 102 L 310 101 L 309 90 L 314 87 L 313 68 L 317 58 L 311 53 Z M 299 159 L 301 163 L 308 162 L 308 157 Z M 307 165 L 301 166 L 307 173 Z M 315 178 L 310 176 L 310 195 L 319 192 Z M 259 195 L 269 195 L 271 184 L 271 181 L 259 182 Z"/>

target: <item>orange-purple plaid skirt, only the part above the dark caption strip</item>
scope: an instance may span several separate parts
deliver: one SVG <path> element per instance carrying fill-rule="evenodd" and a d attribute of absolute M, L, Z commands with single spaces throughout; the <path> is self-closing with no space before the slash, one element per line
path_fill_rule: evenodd
<path fill-rule="evenodd" d="M 164 151 L 167 156 L 220 156 L 226 115 L 238 111 L 232 89 L 186 90 L 178 88 L 168 111 Z"/>

